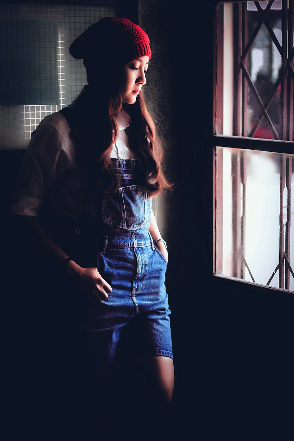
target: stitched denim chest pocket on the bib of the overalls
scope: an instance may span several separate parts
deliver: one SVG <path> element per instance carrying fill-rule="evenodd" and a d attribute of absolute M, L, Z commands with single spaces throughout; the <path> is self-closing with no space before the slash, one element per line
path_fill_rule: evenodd
<path fill-rule="evenodd" d="M 101 217 L 105 224 L 126 230 L 137 230 L 151 219 L 152 199 L 140 185 L 119 187 L 104 198 Z"/>

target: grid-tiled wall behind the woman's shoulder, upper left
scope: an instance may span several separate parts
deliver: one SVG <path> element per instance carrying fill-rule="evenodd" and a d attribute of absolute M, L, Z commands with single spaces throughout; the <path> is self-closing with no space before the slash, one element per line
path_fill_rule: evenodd
<path fill-rule="evenodd" d="M 48 114 L 68 105 L 86 84 L 71 42 L 113 7 L 0 4 L 0 149 L 26 148 Z"/>

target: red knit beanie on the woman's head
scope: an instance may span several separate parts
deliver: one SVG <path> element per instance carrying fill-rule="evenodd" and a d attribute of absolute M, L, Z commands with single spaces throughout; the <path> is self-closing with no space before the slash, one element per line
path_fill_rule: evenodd
<path fill-rule="evenodd" d="M 69 48 L 85 67 L 115 60 L 128 64 L 141 56 L 151 58 L 148 35 L 128 19 L 104 17 L 77 37 Z"/>

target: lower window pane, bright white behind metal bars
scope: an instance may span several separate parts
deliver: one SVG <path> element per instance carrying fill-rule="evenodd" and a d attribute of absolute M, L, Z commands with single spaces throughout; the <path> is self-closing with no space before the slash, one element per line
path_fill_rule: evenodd
<path fill-rule="evenodd" d="M 216 147 L 216 275 L 294 291 L 294 155 Z"/>

